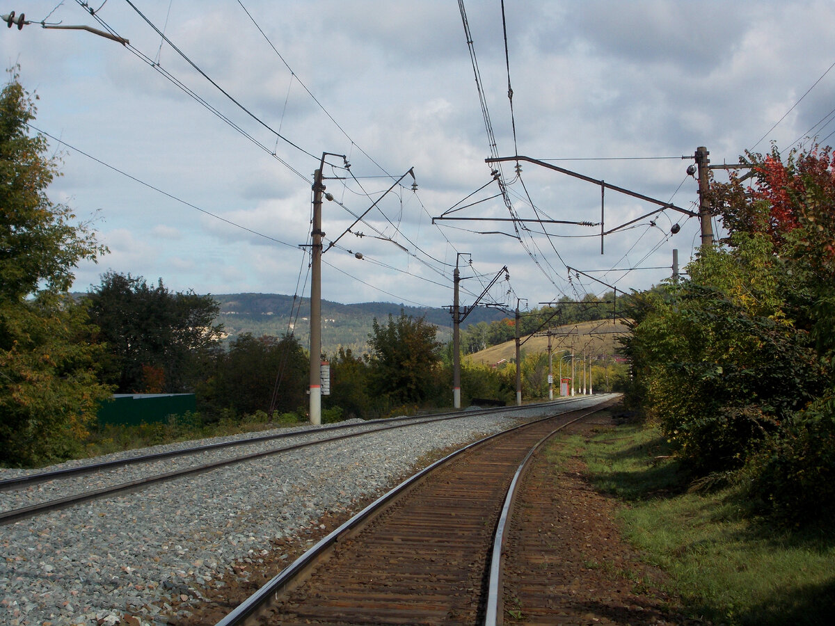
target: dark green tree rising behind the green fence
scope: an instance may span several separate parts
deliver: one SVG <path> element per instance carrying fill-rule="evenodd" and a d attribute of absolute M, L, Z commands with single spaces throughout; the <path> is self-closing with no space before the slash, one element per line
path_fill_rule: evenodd
<path fill-rule="evenodd" d="M 121 393 L 194 391 L 220 338 L 219 305 L 210 295 L 172 292 L 160 279 L 109 271 L 85 298 L 98 339 L 107 344 L 105 381 Z"/>

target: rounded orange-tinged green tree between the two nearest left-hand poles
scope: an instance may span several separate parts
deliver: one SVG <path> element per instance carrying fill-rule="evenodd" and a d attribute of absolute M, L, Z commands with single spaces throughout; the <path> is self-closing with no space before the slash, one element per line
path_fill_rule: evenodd
<path fill-rule="evenodd" d="M 435 326 L 423 317 L 401 311 L 397 319 L 388 316 L 386 324 L 374 318 L 368 341 L 372 392 L 395 403 L 426 401 L 441 347 L 435 336 Z"/>

